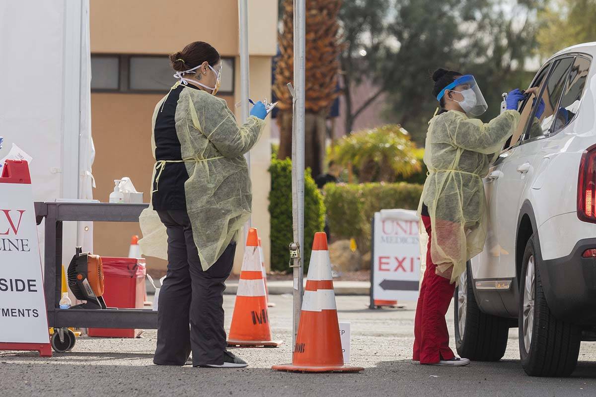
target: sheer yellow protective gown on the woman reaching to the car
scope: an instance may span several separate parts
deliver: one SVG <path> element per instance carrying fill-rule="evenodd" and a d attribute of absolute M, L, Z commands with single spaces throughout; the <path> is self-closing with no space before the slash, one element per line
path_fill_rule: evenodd
<path fill-rule="evenodd" d="M 482 178 L 519 118 L 519 112 L 507 110 L 485 124 L 452 110 L 429 122 L 424 152 L 429 176 L 418 212 L 423 202 L 429 207 L 431 258 L 441 272 L 453 264 L 451 283 L 484 248 L 487 218 Z"/>

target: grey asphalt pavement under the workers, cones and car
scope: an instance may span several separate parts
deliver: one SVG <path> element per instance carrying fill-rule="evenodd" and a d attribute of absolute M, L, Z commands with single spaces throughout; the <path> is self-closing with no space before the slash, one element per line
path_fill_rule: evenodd
<path fill-rule="evenodd" d="M 234 296 L 226 295 L 226 327 Z M 517 329 L 499 362 L 446 368 L 412 362 L 414 302 L 404 310 L 368 310 L 366 296 L 338 296 L 340 321 L 350 321 L 350 364 L 357 374 L 272 371 L 291 361 L 291 296 L 272 295 L 269 309 L 280 348 L 234 349 L 243 369 L 153 365 L 156 331 L 137 339 L 80 337 L 72 352 L 40 358 L 34 352 L 0 352 L 0 396 L 595 396 L 596 343 L 584 342 L 578 369 L 564 379 L 526 376 Z M 452 311 L 449 327 L 452 330 Z M 452 342 L 454 345 L 454 342 Z"/>

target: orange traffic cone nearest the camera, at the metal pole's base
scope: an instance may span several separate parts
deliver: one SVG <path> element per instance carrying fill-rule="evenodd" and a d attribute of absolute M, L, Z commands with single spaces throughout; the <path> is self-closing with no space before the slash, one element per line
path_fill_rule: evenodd
<path fill-rule="evenodd" d="M 311 265 L 308 268 L 292 364 L 274 365 L 272 368 L 294 372 L 364 370 L 343 364 L 342 340 L 325 233 L 315 233 L 312 243 Z"/>

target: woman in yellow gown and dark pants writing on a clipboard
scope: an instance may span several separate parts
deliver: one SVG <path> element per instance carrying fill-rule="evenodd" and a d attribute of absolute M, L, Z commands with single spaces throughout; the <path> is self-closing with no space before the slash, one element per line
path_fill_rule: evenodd
<path fill-rule="evenodd" d="M 243 155 L 267 112 L 257 102 L 238 126 L 215 96 L 222 62 L 208 43 L 190 43 L 170 61 L 178 82 L 153 113 L 151 204 L 139 218 L 142 253 L 168 261 L 153 362 L 184 365 L 192 351 L 195 367 L 246 367 L 226 350 L 222 294 L 252 205 Z"/>

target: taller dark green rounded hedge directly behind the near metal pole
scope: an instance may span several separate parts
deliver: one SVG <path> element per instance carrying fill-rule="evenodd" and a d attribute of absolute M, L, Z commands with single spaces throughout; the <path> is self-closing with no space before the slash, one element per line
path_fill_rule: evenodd
<path fill-rule="evenodd" d="M 294 240 L 292 232 L 292 163 L 289 159 L 271 160 L 271 192 L 269 193 L 269 215 L 271 215 L 271 269 L 289 271 L 290 252 L 288 246 Z M 325 226 L 325 205 L 321 192 L 316 188 L 311 171 L 305 172 L 305 271 L 311 260 L 312 240 L 316 232 Z"/>

